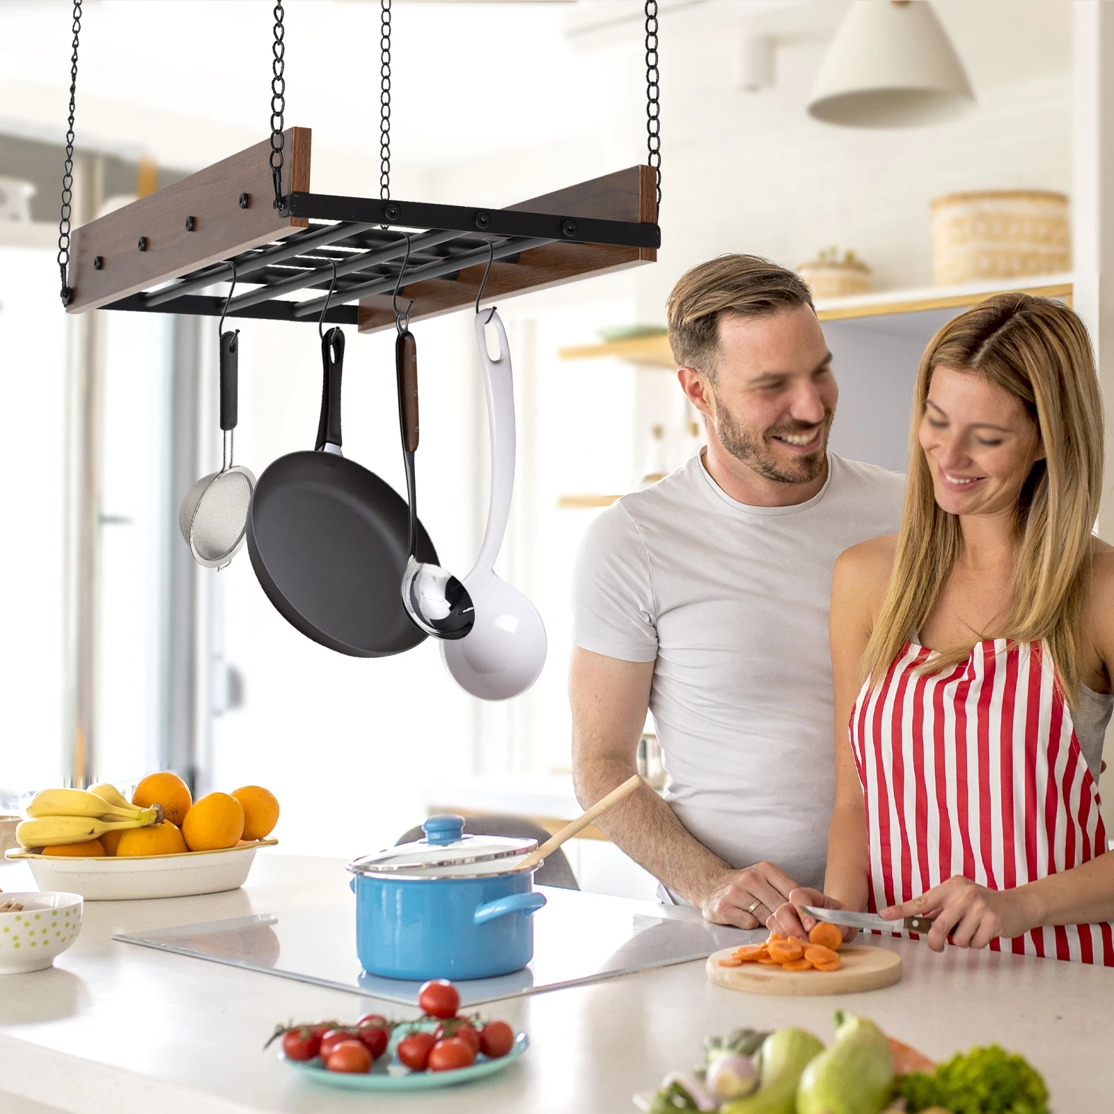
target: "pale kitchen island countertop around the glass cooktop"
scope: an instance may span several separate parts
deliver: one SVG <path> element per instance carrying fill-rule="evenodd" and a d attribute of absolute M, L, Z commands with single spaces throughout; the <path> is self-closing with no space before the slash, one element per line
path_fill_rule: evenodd
<path fill-rule="evenodd" d="M 87 902 L 81 935 L 52 970 L 0 977 L 0 1112 L 21 1112 L 26 1100 L 72 1114 L 622 1114 L 634 1110 L 634 1092 L 696 1063 L 706 1034 L 795 1025 L 827 1043 L 836 1008 L 869 1016 L 937 1058 L 991 1042 L 1016 1049 L 1044 1075 L 1057 1114 L 1114 1107 L 1114 970 L 1082 964 L 958 949 L 938 956 L 922 942 L 886 940 L 880 946 L 905 962 L 900 983 L 817 998 L 740 994 L 713 986 L 703 961 L 678 964 L 485 1006 L 529 1034 L 521 1061 L 468 1086 L 368 1095 L 304 1079 L 263 1043 L 278 1022 L 416 1010 L 111 939 L 342 902 L 351 899 L 348 878 L 339 860 L 271 852 L 256 858 L 241 890 Z M 0 866 L 0 887 L 35 888 L 16 863 Z"/>

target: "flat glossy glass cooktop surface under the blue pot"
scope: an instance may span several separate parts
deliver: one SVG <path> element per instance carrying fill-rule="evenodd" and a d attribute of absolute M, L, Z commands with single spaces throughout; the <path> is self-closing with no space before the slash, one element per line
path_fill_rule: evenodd
<path fill-rule="evenodd" d="M 705 959 L 720 948 L 766 936 L 688 919 L 691 911 L 674 907 L 538 889 L 548 902 L 534 915 L 534 960 L 511 975 L 458 983 L 462 1006 Z M 405 1006 L 417 1005 L 421 985 L 361 970 L 354 900 L 149 932 L 119 932 L 113 939 Z"/>

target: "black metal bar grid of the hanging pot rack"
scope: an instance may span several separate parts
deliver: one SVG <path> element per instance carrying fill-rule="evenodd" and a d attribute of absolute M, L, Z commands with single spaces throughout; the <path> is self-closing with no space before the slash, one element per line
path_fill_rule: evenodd
<path fill-rule="evenodd" d="M 390 293 L 403 261 L 405 286 L 426 278 L 455 280 L 465 267 L 489 256 L 515 264 L 521 252 L 543 244 L 661 245 L 656 224 L 632 221 L 333 194 L 292 193 L 283 201 L 291 216 L 311 222 L 307 228 L 119 299 L 105 309 L 216 316 L 224 309 L 224 297 L 198 295 L 198 291 L 228 282 L 232 263 L 240 293 L 228 305 L 229 316 L 316 321 L 328 301 L 325 321 L 354 324 L 356 307 L 348 303 Z M 296 294 L 306 296 L 287 296 Z"/>

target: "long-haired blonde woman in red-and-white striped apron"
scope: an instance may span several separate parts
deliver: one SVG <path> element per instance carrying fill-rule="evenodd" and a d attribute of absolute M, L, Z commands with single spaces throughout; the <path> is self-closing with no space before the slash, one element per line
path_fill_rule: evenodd
<path fill-rule="evenodd" d="M 825 895 L 928 942 L 1114 965 L 1098 812 L 1114 549 L 1092 536 L 1102 399 L 1067 306 L 1001 294 L 932 339 L 901 529 L 836 565 Z M 848 932 L 848 935 L 851 935 Z"/>

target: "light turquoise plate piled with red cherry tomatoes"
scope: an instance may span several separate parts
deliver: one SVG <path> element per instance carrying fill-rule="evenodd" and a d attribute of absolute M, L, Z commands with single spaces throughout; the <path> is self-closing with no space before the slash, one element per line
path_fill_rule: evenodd
<path fill-rule="evenodd" d="M 367 1014 L 352 1025 L 280 1025 L 281 1059 L 314 1083 L 350 1091 L 428 1091 L 502 1072 L 529 1046 L 507 1022 L 461 1015 L 460 995 L 447 979 L 418 993 L 422 1016 L 390 1020 Z"/>

